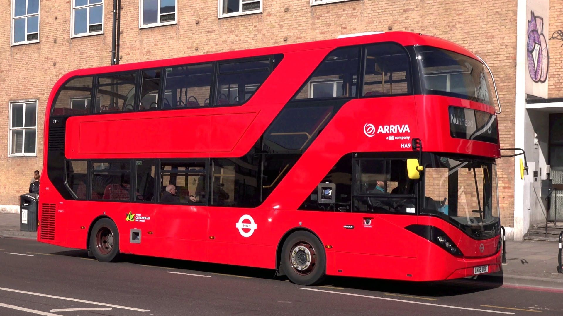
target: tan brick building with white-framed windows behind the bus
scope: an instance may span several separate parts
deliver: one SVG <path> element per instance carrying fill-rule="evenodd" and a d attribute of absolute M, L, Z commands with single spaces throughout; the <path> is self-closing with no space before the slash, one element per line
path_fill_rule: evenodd
<path fill-rule="evenodd" d="M 549 70 L 540 83 L 548 86 L 548 94 L 535 98 L 563 97 L 563 33 L 555 31 L 563 29 L 563 0 L 538 2 L 548 3 L 543 20 L 550 24 L 549 29 L 544 25 L 543 35 L 549 43 Z M 11 10 L 0 13 L 0 130 L 5 131 L 0 133 L 0 209 L 17 211 L 18 197 L 27 192 L 33 170 L 42 169 L 43 122 L 53 84 L 70 70 L 110 65 L 113 1 L 5 4 Z M 121 0 L 118 57 L 124 64 L 364 31 L 434 35 L 488 62 L 502 102 L 501 147 L 525 147 L 526 94 L 517 88 L 525 85 L 527 11 L 525 0 Z M 535 156 L 529 154 L 528 159 L 538 160 Z M 518 164 L 513 158 L 499 160 L 498 175 L 501 222 L 508 234 L 521 238 L 530 224 L 524 196 L 533 192 L 530 186 L 523 191 L 524 181 L 515 172 Z"/>

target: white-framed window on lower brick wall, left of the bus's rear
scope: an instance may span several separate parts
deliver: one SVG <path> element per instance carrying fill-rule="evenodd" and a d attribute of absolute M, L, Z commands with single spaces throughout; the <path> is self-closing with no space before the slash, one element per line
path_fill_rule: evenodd
<path fill-rule="evenodd" d="M 37 100 L 10 103 L 10 156 L 35 156 Z"/>

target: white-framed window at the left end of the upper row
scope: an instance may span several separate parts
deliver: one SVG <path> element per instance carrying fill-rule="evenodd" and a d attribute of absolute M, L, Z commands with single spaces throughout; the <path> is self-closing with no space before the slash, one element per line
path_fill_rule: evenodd
<path fill-rule="evenodd" d="M 39 42 L 39 0 L 12 0 L 12 45 Z"/>

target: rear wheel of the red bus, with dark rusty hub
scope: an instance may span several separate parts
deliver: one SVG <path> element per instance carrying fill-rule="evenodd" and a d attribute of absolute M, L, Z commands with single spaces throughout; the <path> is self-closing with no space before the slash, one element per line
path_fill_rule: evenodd
<path fill-rule="evenodd" d="M 102 262 L 114 262 L 119 255 L 119 232 L 113 220 L 102 218 L 90 232 L 90 250 Z"/>

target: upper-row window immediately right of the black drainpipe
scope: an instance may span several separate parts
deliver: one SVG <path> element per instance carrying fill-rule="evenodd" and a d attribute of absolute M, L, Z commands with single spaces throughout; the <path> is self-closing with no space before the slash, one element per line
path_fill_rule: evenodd
<path fill-rule="evenodd" d="M 141 0 L 140 28 L 176 24 L 177 0 Z"/>

